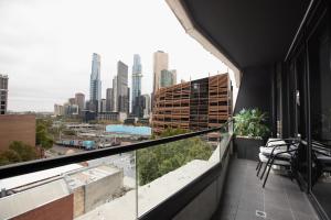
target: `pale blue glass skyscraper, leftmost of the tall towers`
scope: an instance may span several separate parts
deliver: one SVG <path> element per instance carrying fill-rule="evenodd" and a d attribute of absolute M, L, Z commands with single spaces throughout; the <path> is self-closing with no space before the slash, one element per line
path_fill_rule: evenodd
<path fill-rule="evenodd" d="M 89 102 L 97 109 L 89 109 L 97 111 L 102 100 L 102 79 L 100 79 L 100 55 L 94 53 L 92 59 L 92 72 L 89 80 Z"/>

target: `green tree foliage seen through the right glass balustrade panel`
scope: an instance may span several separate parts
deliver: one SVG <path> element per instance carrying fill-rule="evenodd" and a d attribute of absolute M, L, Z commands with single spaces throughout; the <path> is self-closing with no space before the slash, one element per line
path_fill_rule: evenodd
<path fill-rule="evenodd" d="M 166 130 L 160 136 L 177 135 L 184 130 Z M 193 160 L 209 160 L 213 147 L 200 138 L 160 144 L 137 152 L 139 185 L 148 184 Z"/>

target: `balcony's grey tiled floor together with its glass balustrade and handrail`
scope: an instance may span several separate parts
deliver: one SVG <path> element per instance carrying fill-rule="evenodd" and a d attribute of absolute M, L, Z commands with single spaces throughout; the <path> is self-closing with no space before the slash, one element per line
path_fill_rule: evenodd
<path fill-rule="evenodd" d="M 221 139 L 210 142 L 207 134 L 215 132 L 221 134 Z M 168 147 L 184 147 L 183 144 L 193 143 L 191 141 L 206 147 L 211 143 L 216 145 L 207 157 L 193 157 L 184 165 L 170 168 L 166 174 L 146 183 L 138 183 L 141 179 L 137 173 L 120 169 L 115 160 L 119 156 L 118 153 L 121 154 L 120 158 L 125 158 L 135 151 L 136 160 L 132 165 L 139 170 L 139 156 L 143 156 L 139 151 L 154 148 L 167 157 Z M 170 145 L 171 143 L 175 145 Z M 1 219 L 30 219 L 45 210 L 52 213 L 57 206 L 65 206 L 66 209 L 55 217 L 45 213 L 49 219 L 318 219 L 308 197 L 296 182 L 271 174 L 266 188 L 263 188 L 261 182 L 256 177 L 256 162 L 236 158 L 232 146 L 232 123 L 228 123 L 220 129 L 4 166 L 0 168 L 1 187 L 17 183 L 18 179 L 26 183 L 8 190 L 7 196 L 2 195 Z M 76 164 L 92 158 L 94 165 L 90 167 L 84 168 Z M 95 165 L 97 160 L 103 161 L 102 166 Z M 105 163 L 106 160 L 110 163 Z M 75 167 L 63 168 L 62 165 L 65 164 Z M 113 165 L 113 168 L 108 165 Z M 152 169 L 158 164 L 149 165 Z M 56 169 L 58 166 L 61 172 Z M 53 168 L 46 169 L 51 167 Z M 50 176 L 38 180 L 40 172 L 29 174 L 36 170 L 46 172 L 43 175 Z M 24 174 L 23 178 L 18 176 L 21 174 Z M 3 179 L 10 176 L 12 178 Z M 88 184 L 79 188 L 87 177 Z M 33 180 L 28 183 L 29 178 Z M 63 190 L 65 182 L 68 183 L 68 190 Z M 119 186 L 125 186 L 126 191 L 116 193 Z M 49 194 L 47 190 L 53 193 Z M 82 190 L 84 194 L 79 193 Z M 34 204 L 22 204 L 26 199 L 34 199 Z M 19 204 L 20 208 L 14 208 Z"/>

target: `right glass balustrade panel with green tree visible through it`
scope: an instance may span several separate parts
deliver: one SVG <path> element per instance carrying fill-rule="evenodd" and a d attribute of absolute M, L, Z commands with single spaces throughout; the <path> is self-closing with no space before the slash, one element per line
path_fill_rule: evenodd
<path fill-rule="evenodd" d="M 220 163 L 228 140 L 226 127 L 222 132 L 138 151 L 138 217 Z"/>

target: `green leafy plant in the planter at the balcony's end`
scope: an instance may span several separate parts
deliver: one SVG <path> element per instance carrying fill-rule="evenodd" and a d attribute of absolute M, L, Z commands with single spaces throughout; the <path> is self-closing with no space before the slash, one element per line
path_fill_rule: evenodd
<path fill-rule="evenodd" d="M 234 132 L 238 136 L 266 138 L 269 129 L 266 125 L 267 113 L 259 109 L 243 109 L 235 117 Z"/>

